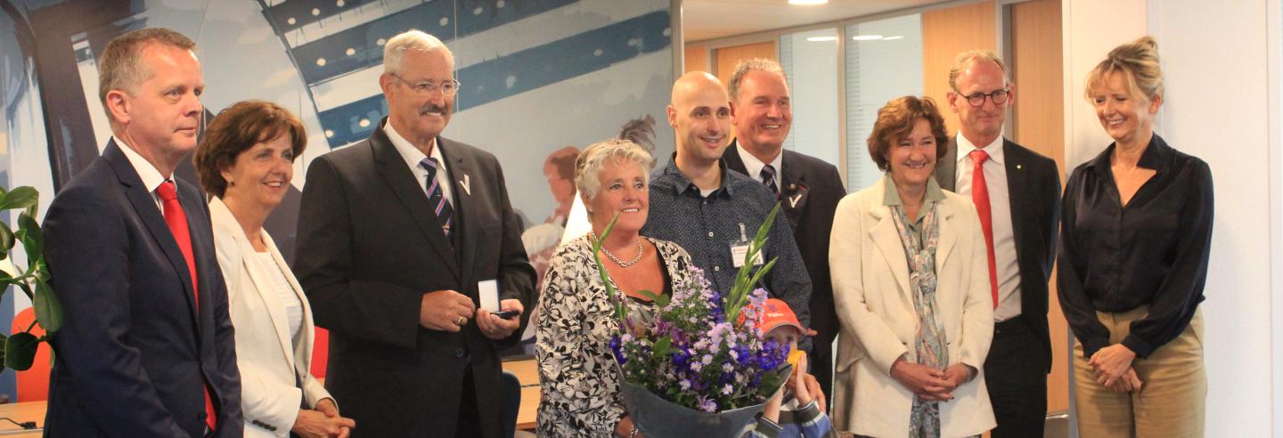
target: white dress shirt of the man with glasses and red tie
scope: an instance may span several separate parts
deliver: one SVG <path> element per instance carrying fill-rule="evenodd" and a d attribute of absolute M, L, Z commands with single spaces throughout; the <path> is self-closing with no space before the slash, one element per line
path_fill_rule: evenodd
<path fill-rule="evenodd" d="M 975 145 L 966 136 L 957 134 L 958 156 L 955 192 L 971 197 L 971 173 Z M 989 214 L 993 222 L 993 256 L 998 273 L 998 309 L 993 320 L 1005 321 L 1020 315 L 1020 265 L 1016 263 L 1016 236 L 1011 228 L 1011 195 L 1007 192 L 1007 166 L 1002 155 L 1002 137 L 983 147 L 989 154 L 984 161 L 984 182 L 989 188 Z"/>

